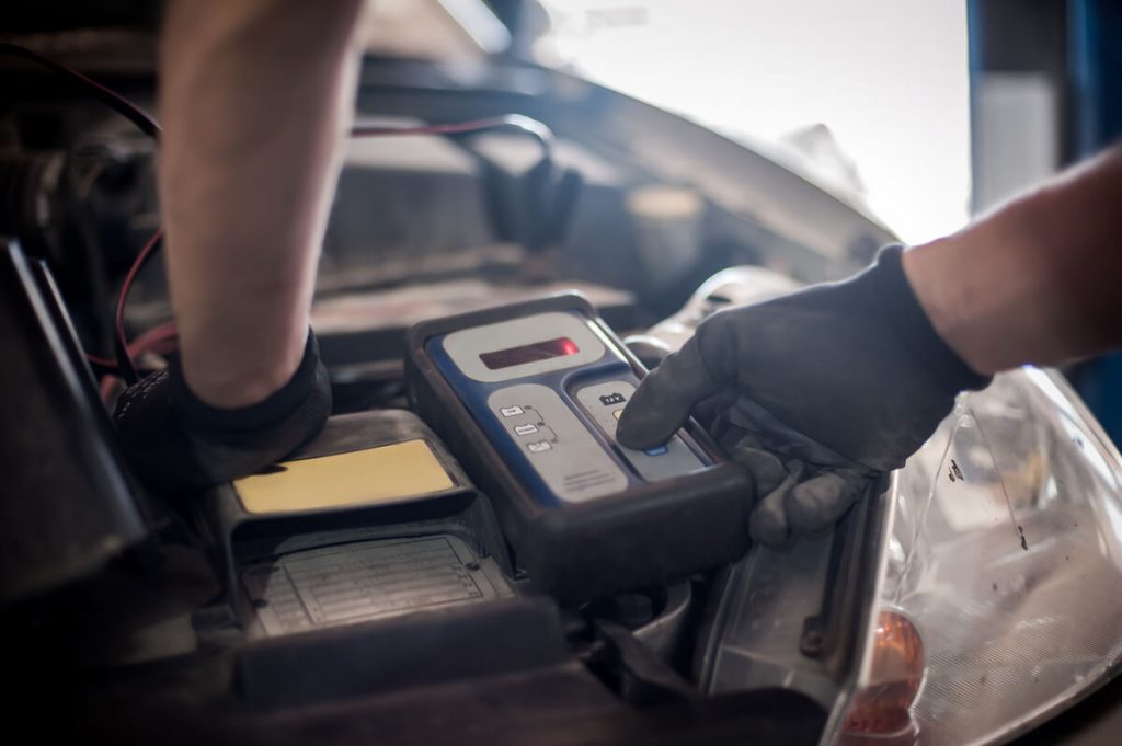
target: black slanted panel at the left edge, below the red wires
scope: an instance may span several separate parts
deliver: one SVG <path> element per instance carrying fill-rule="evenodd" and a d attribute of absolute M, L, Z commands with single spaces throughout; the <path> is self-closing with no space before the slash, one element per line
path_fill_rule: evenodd
<path fill-rule="evenodd" d="M 109 418 L 53 289 L 17 246 L 2 246 L 3 605 L 98 572 L 146 533 Z"/>

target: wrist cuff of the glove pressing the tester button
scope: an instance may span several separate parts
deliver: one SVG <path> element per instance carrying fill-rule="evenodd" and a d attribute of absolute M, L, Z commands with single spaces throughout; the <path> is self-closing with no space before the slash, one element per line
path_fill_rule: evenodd
<path fill-rule="evenodd" d="M 939 337 L 928 319 L 904 274 L 903 250 L 900 245 L 881 249 L 876 263 L 854 278 L 855 284 L 865 285 L 863 295 L 875 302 L 882 320 L 932 377 L 945 381 L 955 392 L 985 388 L 993 376 L 983 376 L 966 365 Z"/>

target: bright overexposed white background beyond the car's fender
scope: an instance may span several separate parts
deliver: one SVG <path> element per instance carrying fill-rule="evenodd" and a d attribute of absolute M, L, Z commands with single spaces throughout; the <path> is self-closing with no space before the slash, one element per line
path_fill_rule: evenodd
<path fill-rule="evenodd" d="M 905 241 L 965 223 L 965 4 L 714 0 L 703 12 L 674 0 L 542 4 L 533 46 L 542 63 L 763 147 Z"/>

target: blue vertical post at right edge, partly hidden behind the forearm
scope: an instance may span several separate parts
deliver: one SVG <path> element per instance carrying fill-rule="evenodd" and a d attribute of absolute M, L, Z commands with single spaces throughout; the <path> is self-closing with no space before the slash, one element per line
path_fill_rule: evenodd
<path fill-rule="evenodd" d="M 1072 135 L 1078 158 L 1122 137 L 1122 2 L 1072 0 L 1068 9 Z M 1080 366 L 1073 381 L 1110 436 L 1122 444 L 1122 352 Z"/>

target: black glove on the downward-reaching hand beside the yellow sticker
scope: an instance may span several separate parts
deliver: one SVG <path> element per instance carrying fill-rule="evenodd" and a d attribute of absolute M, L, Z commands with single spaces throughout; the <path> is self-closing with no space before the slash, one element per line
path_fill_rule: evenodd
<path fill-rule="evenodd" d="M 331 413 L 331 385 L 309 332 L 304 358 L 283 388 L 236 409 L 210 406 L 187 387 L 178 359 L 131 386 L 117 403 L 125 455 L 162 494 L 246 477 L 292 453 Z"/>

